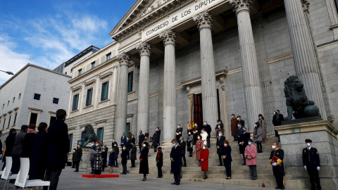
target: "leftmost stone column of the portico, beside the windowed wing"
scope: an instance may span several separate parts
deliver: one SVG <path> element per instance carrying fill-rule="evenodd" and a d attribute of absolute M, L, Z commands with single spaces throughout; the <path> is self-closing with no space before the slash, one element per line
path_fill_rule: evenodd
<path fill-rule="evenodd" d="M 130 57 L 123 52 L 118 56 L 120 68 L 118 69 L 118 91 L 116 96 L 116 125 L 115 139 L 119 139 L 127 125 L 127 91 L 128 91 L 128 67 L 130 65 Z"/>

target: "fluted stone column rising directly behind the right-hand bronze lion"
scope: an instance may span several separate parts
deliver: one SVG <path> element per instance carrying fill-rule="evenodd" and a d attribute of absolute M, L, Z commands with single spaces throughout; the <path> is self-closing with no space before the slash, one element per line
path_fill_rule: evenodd
<path fill-rule="evenodd" d="M 323 119 L 327 113 L 323 99 L 323 89 L 320 84 L 320 70 L 315 58 L 315 46 L 308 30 L 306 16 L 303 13 L 300 0 L 284 0 L 287 13 L 287 24 L 294 56 L 294 68 L 296 75 L 304 83 L 304 89 L 308 99 L 318 106 Z"/>

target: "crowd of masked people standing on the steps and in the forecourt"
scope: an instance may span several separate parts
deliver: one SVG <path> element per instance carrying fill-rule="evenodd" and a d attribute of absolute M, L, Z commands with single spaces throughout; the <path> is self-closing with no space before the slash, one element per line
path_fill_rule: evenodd
<path fill-rule="evenodd" d="M 4 153 L 4 167 L 6 166 L 6 157 L 11 156 L 13 159 L 13 166 L 11 168 L 12 174 L 17 174 L 20 170 L 20 158 L 30 158 L 30 179 L 42 179 L 51 182 L 50 189 L 56 189 L 58 184 L 58 177 L 61 175 L 62 169 L 65 167 L 67 160 L 69 139 L 68 127 L 65 124 L 65 110 L 58 110 L 56 112 L 57 120 L 47 126 L 45 122 L 41 122 L 37 127 L 39 132 L 36 132 L 35 125 L 23 125 L 21 131 L 16 134 L 15 129 L 11 129 L 6 138 L 6 151 Z M 283 115 L 279 110 L 275 110 L 273 116 L 273 125 L 281 125 L 284 120 Z M 252 180 L 257 179 L 257 154 L 263 152 L 262 144 L 267 140 L 267 128 L 263 115 L 258 115 L 258 121 L 253 127 L 253 134 L 250 135 L 245 127 L 245 122 L 241 116 L 235 117 L 232 114 L 231 134 L 234 141 L 237 141 L 239 146 L 239 153 L 242 154 L 244 163 L 242 165 L 249 166 L 249 172 Z M 47 129 L 48 128 L 48 129 Z M 209 148 L 211 148 L 211 126 L 208 122 L 204 122 L 203 127 L 199 127 L 197 123 L 193 127 L 187 129 L 187 140 L 184 141 L 182 136 L 183 129 L 177 125 L 175 130 L 176 138 L 171 141 L 173 148 L 170 151 L 170 164 L 175 182 L 173 184 L 180 185 L 182 177 L 182 167 L 187 167 L 187 160 L 185 158 L 186 151 L 189 152 L 189 157 L 193 156 L 195 150 L 196 161 L 203 172 L 203 179 L 208 179 L 208 163 L 209 163 Z M 219 165 L 225 167 L 226 179 L 232 177 L 232 147 L 229 141 L 224 136 L 224 125 L 221 120 L 217 121 L 215 126 L 217 134 L 217 141 L 215 150 L 218 154 Z M 276 137 L 279 137 L 275 131 Z M 157 127 L 153 136 L 149 139 L 149 131 L 145 134 L 139 131 L 138 146 L 139 146 L 139 174 L 143 175 L 142 181 L 146 181 L 146 175 L 149 174 L 149 149 L 154 148 L 156 152 L 156 166 L 158 167 L 158 178 L 163 177 L 163 155 L 160 147 L 161 130 Z M 251 139 L 253 137 L 253 139 Z M 278 140 L 279 142 L 280 140 Z M 150 146 L 152 142 L 152 146 Z M 273 151 L 270 153 L 270 164 L 273 166 L 273 175 L 277 182 L 276 189 L 284 189 L 284 151 L 279 148 L 278 142 L 273 143 Z M 256 143 L 256 146 L 255 144 Z M 92 174 L 100 175 L 104 172 L 105 167 L 110 167 L 109 173 L 113 172 L 113 167 L 118 167 L 119 158 L 123 167 L 121 174 L 127 174 L 127 160 L 131 160 L 131 166 L 135 167 L 135 160 L 137 160 L 137 147 L 134 134 L 128 132 L 120 137 L 121 153 L 118 142 L 113 139 L 112 147 L 109 151 L 106 144 L 101 141 L 93 141 L 91 147 L 90 163 L 92 166 Z M 320 178 L 318 171 L 320 170 L 320 160 L 318 150 L 312 148 L 312 141 L 306 139 L 307 148 L 303 149 L 303 165 L 307 170 L 311 179 L 311 186 L 320 189 Z M 120 155 L 120 156 L 119 156 Z M 82 160 L 82 148 L 77 145 L 73 149 L 73 167 L 74 172 L 79 172 L 80 161 Z M 4 167 L 2 170 L 4 170 Z M 35 187 L 32 187 L 35 189 Z"/>

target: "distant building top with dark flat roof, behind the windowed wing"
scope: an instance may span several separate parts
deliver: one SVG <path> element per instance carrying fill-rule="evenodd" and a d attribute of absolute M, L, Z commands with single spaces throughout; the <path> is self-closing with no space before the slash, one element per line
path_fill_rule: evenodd
<path fill-rule="evenodd" d="M 96 51 L 99 51 L 99 48 L 96 46 L 89 46 L 80 53 L 77 53 L 76 56 L 73 58 L 70 58 L 70 60 L 66 61 L 65 63 L 62 63 L 61 65 L 58 65 L 57 68 L 54 69 L 56 72 L 63 73 L 65 75 L 73 76 L 73 66 L 76 65 L 76 63 L 79 63 L 84 58 L 87 58 L 88 56 L 92 55 Z"/>

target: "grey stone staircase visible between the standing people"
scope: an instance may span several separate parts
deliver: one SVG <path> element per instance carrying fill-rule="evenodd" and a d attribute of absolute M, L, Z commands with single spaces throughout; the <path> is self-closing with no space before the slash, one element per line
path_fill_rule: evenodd
<path fill-rule="evenodd" d="M 249 167 L 243 164 L 242 155 L 239 154 L 239 147 L 237 146 L 237 141 L 230 141 L 230 146 L 232 147 L 232 179 L 226 180 L 225 177 L 225 167 L 218 166 L 218 155 L 216 154 L 216 138 L 211 138 L 211 148 L 209 148 L 209 170 L 207 172 L 208 179 L 203 179 L 204 175 L 199 167 L 199 163 L 195 157 L 195 151 L 193 152 L 193 157 L 189 157 L 187 152 L 187 167 L 182 167 L 182 181 L 192 181 L 192 182 L 207 182 L 207 183 L 220 183 L 220 184 L 232 184 L 232 185 L 241 185 L 241 186 L 260 186 L 260 187 L 269 187 L 275 188 L 277 186 L 275 182 L 275 177 L 273 175 L 272 166 L 270 165 L 270 152 L 272 151 L 271 145 L 274 141 L 277 141 L 277 138 L 270 137 L 266 144 L 263 144 L 263 153 L 258 153 L 257 156 L 257 180 L 251 180 Z M 255 144 L 256 145 L 256 144 Z M 171 147 L 161 146 L 163 150 L 163 178 L 173 179 L 173 175 L 170 174 L 170 151 Z M 137 154 L 137 158 L 139 154 Z M 149 150 L 149 178 L 157 177 L 157 167 L 156 167 L 156 153 L 154 149 Z M 120 161 L 119 161 L 120 162 Z M 130 167 L 131 163 L 128 160 L 127 170 L 128 175 L 139 175 L 139 160 L 136 161 L 136 167 Z M 108 168 L 106 168 L 108 169 Z M 106 170 L 107 171 L 107 170 Z M 119 164 L 119 167 L 114 167 L 114 172 L 122 172 L 122 165 Z M 293 175 L 285 176 L 286 189 L 305 189 L 306 180 L 304 179 L 294 179 Z"/>

